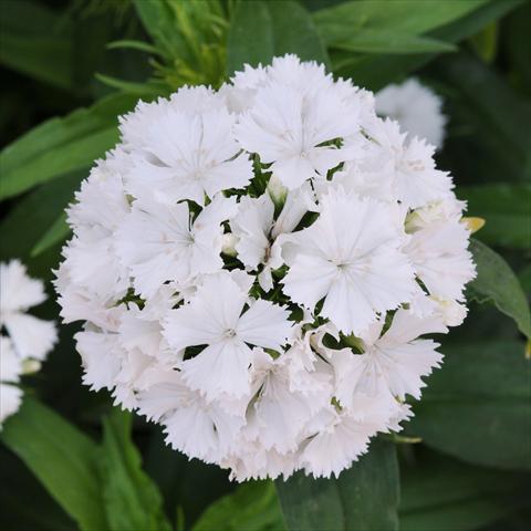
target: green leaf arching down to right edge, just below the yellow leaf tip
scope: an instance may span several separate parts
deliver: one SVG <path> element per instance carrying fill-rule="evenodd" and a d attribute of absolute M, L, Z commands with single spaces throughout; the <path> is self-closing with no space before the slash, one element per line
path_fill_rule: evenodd
<path fill-rule="evenodd" d="M 493 302 L 500 312 L 516 321 L 522 334 L 531 339 L 531 312 L 512 269 L 497 252 L 473 238 L 470 251 L 478 275 L 468 284 L 468 298 L 480 303 Z"/>

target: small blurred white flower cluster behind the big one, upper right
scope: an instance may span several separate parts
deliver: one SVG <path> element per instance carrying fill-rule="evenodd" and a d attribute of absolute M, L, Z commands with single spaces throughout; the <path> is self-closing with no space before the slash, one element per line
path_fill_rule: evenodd
<path fill-rule="evenodd" d="M 409 135 L 425 138 L 437 148 L 442 147 L 447 122 L 442 100 L 415 77 L 379 91 L 376 113 L 396 119 Z"/>

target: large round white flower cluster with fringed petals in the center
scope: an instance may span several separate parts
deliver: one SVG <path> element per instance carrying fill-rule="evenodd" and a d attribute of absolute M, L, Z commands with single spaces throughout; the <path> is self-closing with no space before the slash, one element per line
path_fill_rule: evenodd
<path fill-rule="evenodd" d="M 121 118 L 58 272 L 84 382 L 237 480 L 399 429 L 475 267 L 434 147 L 293 55 Z"/>

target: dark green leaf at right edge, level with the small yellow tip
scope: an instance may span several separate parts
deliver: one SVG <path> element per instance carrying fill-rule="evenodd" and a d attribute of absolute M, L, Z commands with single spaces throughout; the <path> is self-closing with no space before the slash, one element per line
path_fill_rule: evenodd
<path fill-rule="evenodd" d="M 514 249 L 531 247 L 531 185 L 496 184 L 459 187 L 468 215 L 485 218 L 481 241 Z"/>

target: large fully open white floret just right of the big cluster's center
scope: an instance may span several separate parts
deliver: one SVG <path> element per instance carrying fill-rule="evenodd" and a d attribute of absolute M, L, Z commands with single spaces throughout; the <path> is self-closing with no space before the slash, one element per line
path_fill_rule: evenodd
<path fill-rule="evenodd" d="M 296 252 L 284 292 L 312 311 L 324 299 L 321 315 L 358 333 L 410 298 L 413 269 L 384 204 L 331 190 L 321 205 L 317 221 L 288 240 Z"/>

